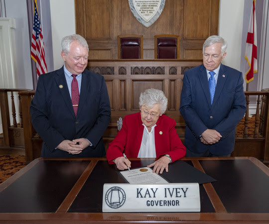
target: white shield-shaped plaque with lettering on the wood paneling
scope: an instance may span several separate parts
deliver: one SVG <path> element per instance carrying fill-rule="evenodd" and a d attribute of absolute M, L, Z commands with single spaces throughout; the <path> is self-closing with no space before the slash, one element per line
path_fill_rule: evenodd
<path fill-rule="evenodd" d="M 160 16 L 165 0 L 129 0 L 134 17 L 145 27 L 151 26 Z"/>

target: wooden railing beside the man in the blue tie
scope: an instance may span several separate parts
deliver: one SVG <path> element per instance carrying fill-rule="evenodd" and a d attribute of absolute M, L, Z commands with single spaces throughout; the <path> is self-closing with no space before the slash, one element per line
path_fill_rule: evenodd
<path fill-rule="evenodd" d="M 247 111 L 237 125 L 235 150 L 232 156 L 253 156 L 269 163 L 269 89 L 245 92 Z M 256 112 L 250 114 L 250 104 Z"/>

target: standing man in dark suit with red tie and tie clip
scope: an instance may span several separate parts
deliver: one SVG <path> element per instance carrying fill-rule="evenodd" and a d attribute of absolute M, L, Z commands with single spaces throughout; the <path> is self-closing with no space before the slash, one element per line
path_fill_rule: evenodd
<path fill-rule="evenodd" d="M 30 106 L 43 139 L 41 157 L 102 157 L 111 114 L 104 77 L 85 70 L 89 47 L 82 36 L 66 36 L 61 44 L 64 66 L 39 76 Z"/>

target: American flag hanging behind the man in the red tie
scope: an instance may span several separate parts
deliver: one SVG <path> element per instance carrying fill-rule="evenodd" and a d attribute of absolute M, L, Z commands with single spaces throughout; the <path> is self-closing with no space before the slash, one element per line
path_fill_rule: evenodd
<path fill-rule="evenodd" d="M 45 60 L 43 35 L 37 12 L 36 0 L 33 1 L 34 1 L 34 21 L 33 21 L 32 42 L 31 42 L 31 58 L 36 63 L 36 74 L 39 76 L 41 74 L 47 73 L 47 65 Z"/>

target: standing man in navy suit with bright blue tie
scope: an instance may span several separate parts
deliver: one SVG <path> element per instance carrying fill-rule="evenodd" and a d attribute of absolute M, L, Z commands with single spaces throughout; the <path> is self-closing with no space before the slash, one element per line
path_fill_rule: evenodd
<path fill-rule="evenodd" d="M 187 157 L 226 157 L 234 150 L 246 98 L 242 73 L 221 64 L 226 47 L 222 37 L 208 37 L 203 65 L 184 73 L 180 112 L 186 122 Z"/>

